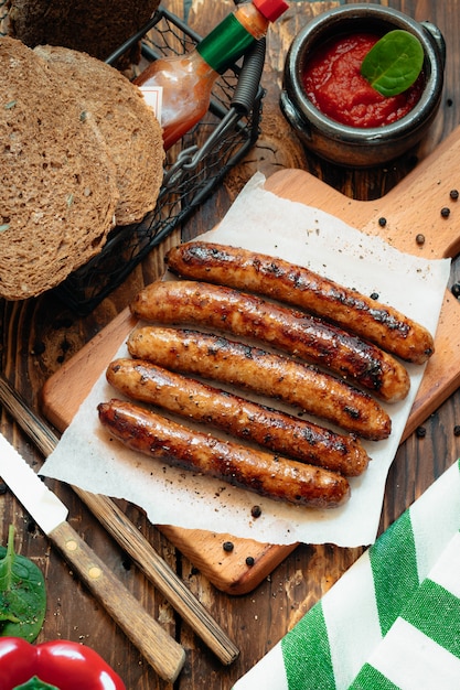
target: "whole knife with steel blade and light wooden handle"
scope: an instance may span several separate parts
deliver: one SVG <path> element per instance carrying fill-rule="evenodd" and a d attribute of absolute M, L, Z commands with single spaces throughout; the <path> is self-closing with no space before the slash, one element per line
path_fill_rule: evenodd
<path fill-rule="evenodd" d="M 67 522 L 67 508 L 0 434 L 0 476 L 157 673 L 173 682 L 185 651 Z"/>

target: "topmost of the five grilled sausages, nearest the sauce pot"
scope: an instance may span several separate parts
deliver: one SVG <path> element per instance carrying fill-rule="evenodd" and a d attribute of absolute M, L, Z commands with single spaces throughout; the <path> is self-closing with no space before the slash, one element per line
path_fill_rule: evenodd
<path fill-rule="evenodd" d="M 165 261 L 174 273 L 265 294 L 323 316 L 406 362 L 422 364 L 435 352 L 420 324 L 376 300 L 282 259 L 225 245 L 191 241 Z"/>

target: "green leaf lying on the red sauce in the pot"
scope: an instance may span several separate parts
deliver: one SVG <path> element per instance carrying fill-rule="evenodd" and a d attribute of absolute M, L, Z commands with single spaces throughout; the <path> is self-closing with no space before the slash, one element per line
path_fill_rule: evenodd
<path fill-rule="evenodd" d="M 417 79 L 424 64 L 424 48 L 417 36 L 396 29 L 370 50 L 361 74 L 383 96 L 397 96 Z"/>

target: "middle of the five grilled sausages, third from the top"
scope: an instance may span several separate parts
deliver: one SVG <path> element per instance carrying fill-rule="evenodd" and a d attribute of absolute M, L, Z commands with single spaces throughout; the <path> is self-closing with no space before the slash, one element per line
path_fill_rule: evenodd
<path fill-rule="evenodd" d="M 389 435 L 391 419 L 370 395 L 311 365 L 196 331 L 143 326 L 128 338 L 132 357 L 284 400 L 371 440 Z"/>

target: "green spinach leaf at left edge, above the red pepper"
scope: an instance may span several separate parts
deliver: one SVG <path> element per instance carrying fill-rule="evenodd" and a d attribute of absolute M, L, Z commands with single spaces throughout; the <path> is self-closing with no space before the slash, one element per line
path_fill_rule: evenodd
<path fill-rule="evenodd" d="M 14 553 L 14 527 L 7 548 L 0 547 L 0 636 L 33 642 L 46 612 L 46 587 L 42 571 L 24 556 Z"/>

